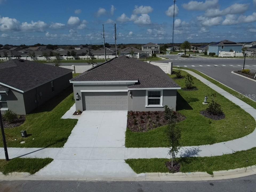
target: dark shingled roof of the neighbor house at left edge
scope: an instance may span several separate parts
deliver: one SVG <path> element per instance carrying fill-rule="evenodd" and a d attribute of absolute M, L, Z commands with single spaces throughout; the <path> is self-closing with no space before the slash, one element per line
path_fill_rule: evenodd
<path fill-rule="evenodd" d="M 73 70 L 23 59 L 11 59 L 0 65 L 0 85 L 25 92 Z"/>

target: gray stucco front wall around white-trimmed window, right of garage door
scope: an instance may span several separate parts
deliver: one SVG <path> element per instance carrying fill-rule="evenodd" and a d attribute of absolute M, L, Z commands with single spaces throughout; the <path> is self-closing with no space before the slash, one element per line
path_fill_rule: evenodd
<path fill-rule="evenodd" d="M 129 93 L 128 93 L 129 94 Z M 176 89 L 163 90 L 163 106 L 167 105 L 176 111 Z M 132 90 L 132 96 L 128 95 L 129 111 L 164 111 L 163 107 L 145 107 L 146 90 Z"/>

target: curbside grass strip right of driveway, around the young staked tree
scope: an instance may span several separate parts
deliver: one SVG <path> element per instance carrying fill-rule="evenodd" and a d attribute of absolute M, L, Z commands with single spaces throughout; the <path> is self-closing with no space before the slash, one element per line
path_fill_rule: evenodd
<path fill-rule="evenodd" d="M 256 164 L 256 147 L 238 151 L 233 154 L 227 154 L 214 157 L 186 157 L 177 158 L 181 165 L 181 172 L 207 172 L 236 169 L 249 167 Z M 169 170 L 165 166 L 165 162 L 170 159 L 127 159 L 126 163 L 136 173 L 167 173 Z"/>

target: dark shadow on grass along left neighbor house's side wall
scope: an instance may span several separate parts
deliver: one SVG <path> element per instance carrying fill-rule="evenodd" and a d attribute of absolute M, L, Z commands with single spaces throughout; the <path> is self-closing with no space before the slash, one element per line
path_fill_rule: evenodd
<path fill-rule="evenodd" d="M 60 102 L 62 102 L 67 96 L 69 96 L 73 92 L 73 87 L 69 86 L 61 93 L 46 101 L 42 105 L 38 106 L 37 109 L 32 111 L 31 113 L 42 113 L 45 111 L 53 110 Z"/>

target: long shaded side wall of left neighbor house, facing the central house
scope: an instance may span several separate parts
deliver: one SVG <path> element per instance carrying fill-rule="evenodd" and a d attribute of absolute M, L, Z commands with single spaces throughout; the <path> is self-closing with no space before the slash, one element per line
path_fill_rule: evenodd
<path fill-rule="evenodd" d="M 62 77 L 53 80 L 54 91 L 51 90 L 51 81 L 49 81 L 41 86 L 38 86 L 23 93 L 26 114 L 30 113 L 52 97 L 58 95 L 67 87 L 71 86 L 69 80 L 72 79 L 72 77 L 73 75 L 70 72 L 66 75 L 63 75 Z"/>

